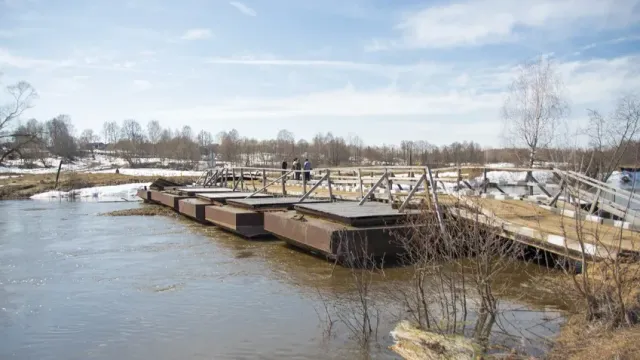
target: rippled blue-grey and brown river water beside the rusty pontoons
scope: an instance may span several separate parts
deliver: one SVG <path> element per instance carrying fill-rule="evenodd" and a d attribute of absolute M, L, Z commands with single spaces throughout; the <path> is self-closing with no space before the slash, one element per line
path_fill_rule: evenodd
<path fill-rule="evenodd" d="M 327 336 L 322 316 L 324 304 L 353 311 L 349 271 L 281 242 L 97 215 L 134 206 L 0 202 L 0 359 L 397 358 L 387 346 L 403 310 L 388 289 L 407 269 L 374 279 L 379 335 L 363 350 L 339 323 Z M 558 313 L 523 274 L 504 275 L 513 296 L 495 337 L 540 354 Z"/>

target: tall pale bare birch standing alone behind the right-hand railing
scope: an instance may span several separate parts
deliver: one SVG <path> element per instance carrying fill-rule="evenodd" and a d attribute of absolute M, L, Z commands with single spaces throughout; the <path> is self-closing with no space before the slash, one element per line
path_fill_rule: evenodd
<path fill-rule="evenodd" d="M 504 140 L 509 146 L 529 149 L 529 166 L 537 152 L 549 146 L 568 106 L 552 62 L 543 57 L 522 65 L 504 102 Z"/>

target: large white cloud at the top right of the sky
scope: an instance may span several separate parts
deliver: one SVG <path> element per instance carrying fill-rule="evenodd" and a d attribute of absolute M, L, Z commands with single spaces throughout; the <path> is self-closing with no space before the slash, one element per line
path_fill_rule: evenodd
<path fill-rule="evenodd" d="M 366 49 L 448 48 L 513 42 L 527 31 L 619 28 L 640 18 L 636 0 L 480 0 L 433 5 L 403 16 L 400 38 L 374 39 Z"/>

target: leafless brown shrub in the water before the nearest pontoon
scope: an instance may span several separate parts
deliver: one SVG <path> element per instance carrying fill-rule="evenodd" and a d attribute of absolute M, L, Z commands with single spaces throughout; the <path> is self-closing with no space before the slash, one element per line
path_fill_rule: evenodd
<path fill-rule="evenodd" d="M 403 262 L 413 269 L 412 285 L 392 293 L 419 328 L 471 337 L 486 351 L 499 326 L 498 296 L 508 286 L 496 277 L 520 263 L 524 246 L 505 240 L 479 209 L 462 204 L 445 211 L 442 223 L 423 208 L 410 225 L 409 234 L 396 238 L 405 249 Z"/>

